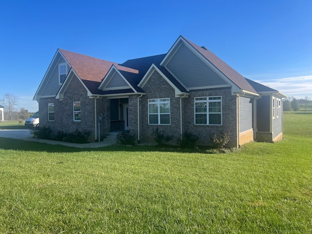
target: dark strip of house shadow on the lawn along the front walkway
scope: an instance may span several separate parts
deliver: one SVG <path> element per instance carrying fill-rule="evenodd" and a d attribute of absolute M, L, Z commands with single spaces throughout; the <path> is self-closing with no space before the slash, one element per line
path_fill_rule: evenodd
<path fill-rule="evenodd" d="M 127 152 L 178 152 L 178 153 L 205 153 L 209 148 L 181 149 L 179 146 L 172 145 L 112 145 L 99 148 L 76 148 L 63 145 L 51 145 L 36 141 L 26 141 L 0 137 L 0 149 L 4 150 L 22 150 L 22 151 L 42 151 L 48 153 L 73 153 L 73 152 L 109 152 L 109 151 L 127 151 Z"/>

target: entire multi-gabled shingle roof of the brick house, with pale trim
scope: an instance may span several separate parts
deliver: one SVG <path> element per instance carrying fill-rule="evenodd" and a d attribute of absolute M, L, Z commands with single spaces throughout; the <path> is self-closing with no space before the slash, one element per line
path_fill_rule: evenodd
<path fill-rule="evenodd" d="M 71 69 L 67 75 L 68 79 L 66 78 L 59 88 L 57 98 L 59 97 L 59 94 L 65 92 L 70 79 L 73 78 L 73 75 L 76 75 L 79 78 L 80 82 L 87 89 L 89 96 L 112 95 L 118 93 L 144 93 L 144 90 L 142 89 L 145 82 L 144 79 L 148 79 L 147 73 L 150 73 L 154 70 L 156 70 L 158 73 L 161 73 L 161 76 L 163 76 L 167 82 L 169 82 L 170 85 L 175 88 L 177 95 L 188 93 L 188 90 L 181 83 L 181 81 L 178 80 L 178 78 L 176 78 L 175 75 L 172 74 L 166 67 L 166 64 L 170 61 L 181 43 L 185 44 L 190 49 L 190 51 L 192 51 L 198 58 L 204 61 L 207 66 L 211 67 L 213 71 L 216 72 L 216 74 L 218 74 L 228 83 L 228 85 L 232 85 L 232 87 L 234 87 L 232 89 L 233 93 L 246 92 L 247 94 L 258 96 L 258 92 L 262 92 L 262 90 L 266 90 L 263 92 L 278 92 L 267 86 L 244 78 L 227 63 L 215 56 L 215 54 L 209 51 L 206 47 L 200 47 L 192 41 L 179 36 L 175 44 L 166 54 L 138 59 L 129 59 L 123 63 L 97 59 L 75 52 L 58 49 L 54 59 L 57 58 L 57 56 L 63 57 Z M 50 67 L 52 65 L 50 64 Z M 119 87 L 122 86 L 121 82 L 119 80 L 120 85 L 118 86 L 118 81 L 115 79 L 118 77 L 114 77 L 113 81 L 115 80 L 116 82 L 114 84 L 112 83 L 111 87 L 116 87 L 116 89 L 104 89 L 104 87 L 106 87 L 110 82 L 110 79 L 112 79 L 112 74 L 110 74 L 110 72 L 117 72 L 119 77 L 124 79 L 125 82 L 129 84 L 129 86 L 126 87 L 123 85 L 123 87 Z M 45 79 L 45 77 L 43 79 Z"/>

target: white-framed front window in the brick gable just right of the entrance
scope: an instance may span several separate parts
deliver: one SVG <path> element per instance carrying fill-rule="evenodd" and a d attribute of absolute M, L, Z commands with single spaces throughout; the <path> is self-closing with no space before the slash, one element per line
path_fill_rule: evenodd
<path fill-rule="evenodd" d="M 148 99 L 148 124 L 170 124 L 170 98 Z"/>

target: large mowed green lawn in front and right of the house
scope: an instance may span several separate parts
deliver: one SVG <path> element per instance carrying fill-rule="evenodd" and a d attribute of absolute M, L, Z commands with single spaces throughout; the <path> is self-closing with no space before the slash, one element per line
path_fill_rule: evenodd
<path fill-rule="evenodd" d="M 312 112 L 284 119 L 228 154 L 0 138 L 0 233 L 312 233 Z"/>

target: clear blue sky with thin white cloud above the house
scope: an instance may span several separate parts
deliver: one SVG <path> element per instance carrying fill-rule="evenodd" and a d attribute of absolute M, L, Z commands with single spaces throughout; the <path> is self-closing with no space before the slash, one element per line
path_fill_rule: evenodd
<path fill-rule="evenodd" d="M 122 63 L 167 53 L 179 35 L 244 77 L 312 99 L 311 0 L 1 0 L 0 97 L 37 111 L 58 48 Z"/>

